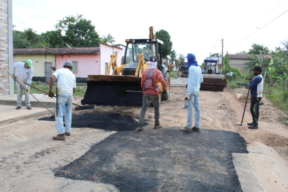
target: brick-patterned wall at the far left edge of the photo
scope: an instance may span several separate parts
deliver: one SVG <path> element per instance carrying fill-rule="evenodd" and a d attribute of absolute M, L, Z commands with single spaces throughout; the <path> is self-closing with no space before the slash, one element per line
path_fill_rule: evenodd
<path fill-rule="evenodd" d="M 8 5 L 0 0 L 0 95 L 9 95 L 8 66 Z"/>

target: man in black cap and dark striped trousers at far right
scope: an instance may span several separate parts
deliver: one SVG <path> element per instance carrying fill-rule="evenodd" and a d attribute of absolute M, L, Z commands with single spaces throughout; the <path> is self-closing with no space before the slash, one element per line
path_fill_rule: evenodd
<path fill-rule="evenodd" d="M 262 67 L 256 66 L 253 69 L 254 79 L 253 77 L 249 77 L 249 86 L 250 86 L 250 93 L 251 93 L 251 104 L 250 104 L 250 112 L 252 114 L 252 123 L 247 123 L 249 125 L 249 129 L 258 129 L 258 119 L 259 119 L 259 102 L 262 99 L 262 91 L 263 91 L 263 77 Z"/>

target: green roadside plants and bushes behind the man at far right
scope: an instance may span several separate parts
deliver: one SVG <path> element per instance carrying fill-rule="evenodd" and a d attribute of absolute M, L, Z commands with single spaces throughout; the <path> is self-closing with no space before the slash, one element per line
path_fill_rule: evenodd
<path fill-rule="evenodd" d="M 263 95 L 268 98 L 277 108 L 285 111 L 288 114 L 288 40 L 282 42 L 284 48 L 276 47 L 274 51 L 268 51 L 267 47 L 253 44 L 248 53 L 253 55 L 253 58 L 247 64 L 247 70 L 252 70 L 256 65 L 260 65 L 263 69 L 262 76 L 265 78 Z M 264 54 L 262 55 L 262 52 Z M 246 52 L 245 52 L 246 53 Z M 267 56 L 268 54 L 268 56 Z M 225 55 L 228 57 L 228 54 Z M 224 63 L 227 58 L 224 58 Z M 229 57 L 228 57 L 229 62 Z M 236 85 L 235 82 L 248 82 L 246 79 L 253 76 L 251 72 L 242 74 L 241 71 L 230 67 L 223 74 L 233 72 L 235 77 L 228 78 L 227 84 L 230 88 L 239 88 L 242 86 Z"/>

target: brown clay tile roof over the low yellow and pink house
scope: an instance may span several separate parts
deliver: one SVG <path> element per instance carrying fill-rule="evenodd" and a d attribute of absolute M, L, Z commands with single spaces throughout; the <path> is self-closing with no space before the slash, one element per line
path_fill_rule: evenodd
<path fill-rule="evenodd" d="M 13 49 L 14 55 L 99 54 L 100 47 Z"/>

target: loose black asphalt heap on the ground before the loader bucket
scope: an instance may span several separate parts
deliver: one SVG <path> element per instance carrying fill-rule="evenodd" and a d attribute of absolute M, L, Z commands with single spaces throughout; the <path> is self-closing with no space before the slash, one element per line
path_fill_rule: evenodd
<path fill-rule="evenodd" d="M 55 121 L 55 117 L 44 117 L 38 120 Z M 95 128 L 105 131 L 133 131 L 138 122 L 131 116 L 118 113 L 84 113 L 72 115 L 72 128 Z"/>

